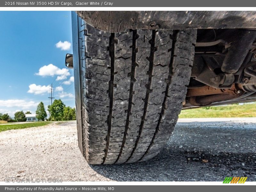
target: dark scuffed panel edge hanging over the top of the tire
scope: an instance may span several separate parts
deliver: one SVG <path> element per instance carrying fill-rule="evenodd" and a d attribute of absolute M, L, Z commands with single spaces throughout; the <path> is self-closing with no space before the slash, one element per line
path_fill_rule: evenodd
<path fill-rule="evenodd" d="M 125 29 L 256 28 L 255 11 L 77 11 L 86 23 L 116 33 Z"/>

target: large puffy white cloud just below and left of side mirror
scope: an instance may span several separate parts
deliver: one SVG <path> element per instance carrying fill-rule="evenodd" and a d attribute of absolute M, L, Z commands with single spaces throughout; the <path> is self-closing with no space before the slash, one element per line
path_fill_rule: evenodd
<path fill-rule="evenodd" d="M 41 67 L 38 71 L 38 73 L 36 73 L 36 75 L 39 76 L 54 76 L 54 75 L 58 75 L 57 79 L 59 78 L 59 80 L 62 79 L 66 79 L 64 78 L 64 76 L 69 76 L 70 73 L 68 71 L 67 68 L 58 68 L 53 64 L 49 64 L 49 65 L 44 65 L 43 67 Z M 56 79 L 56 80 L 57 80 Z"/>

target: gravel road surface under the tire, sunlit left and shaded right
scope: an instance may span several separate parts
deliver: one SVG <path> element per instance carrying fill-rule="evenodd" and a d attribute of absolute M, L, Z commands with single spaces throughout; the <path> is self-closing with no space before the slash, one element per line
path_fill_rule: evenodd
<path fill-rule="evenodd" d="M 0 132 L 0 181 L 256 181 L 256 118 L 179 119 L 165 148 L 148 162 L 88 165 L 76 122 Z M 208 163 L 204 163 L 204 162 Z"/>

